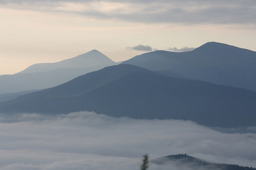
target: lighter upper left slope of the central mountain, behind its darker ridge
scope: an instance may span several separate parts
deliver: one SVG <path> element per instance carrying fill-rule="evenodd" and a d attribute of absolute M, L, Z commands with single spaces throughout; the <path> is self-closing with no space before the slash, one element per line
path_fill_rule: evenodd
<path fill-rule="evenodd" d="M 150 70 L 129 64 L 114 67 L 109 66 L 99 71 L 90 72 L 79 76 L 59 86 L 48 88 L 40 92 L 26 94 L 24 96 L 20 96 L 20 98 L 33 98 L 35 96 L 57 97 L 81 95 L 108 84 L 109 82 L 122 78 L 128 74 L 139 71 L 152 72 Z"/>

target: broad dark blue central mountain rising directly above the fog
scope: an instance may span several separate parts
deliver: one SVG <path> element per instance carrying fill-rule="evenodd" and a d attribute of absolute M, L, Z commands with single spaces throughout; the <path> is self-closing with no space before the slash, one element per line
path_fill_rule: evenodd
<path fill-rule="evenodd" d="M 193 120 L 206 126 L 255 126 L 256 92 L 120 64 L 0 103 L 2 113 L 83 110 L 116 117 Z"/>

